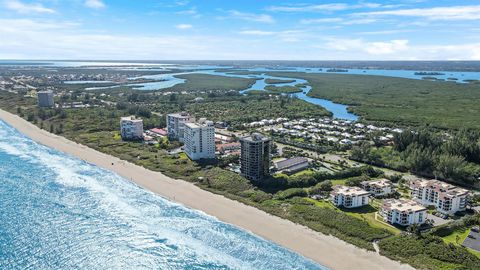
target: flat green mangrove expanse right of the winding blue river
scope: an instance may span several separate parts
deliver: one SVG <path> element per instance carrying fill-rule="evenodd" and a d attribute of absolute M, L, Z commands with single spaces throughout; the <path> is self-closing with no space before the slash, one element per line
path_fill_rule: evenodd
<path fill-rule="evenodd" d="M 305 79 L 312 86 L 310 96 L 348 104 L 369 121 L 480 129 L 480 85 L 351 74 L 268 74 Z"/>

